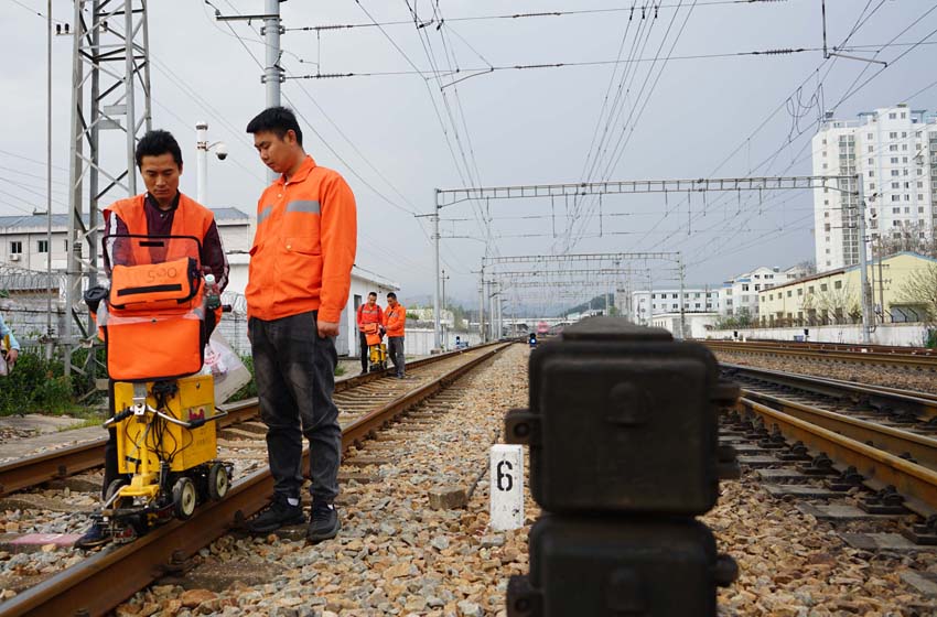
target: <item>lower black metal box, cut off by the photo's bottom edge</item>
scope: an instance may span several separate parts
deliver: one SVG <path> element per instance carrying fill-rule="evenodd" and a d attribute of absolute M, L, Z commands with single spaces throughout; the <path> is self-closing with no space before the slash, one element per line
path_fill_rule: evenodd
<path fill-rule="evenodd" d="M 530 530 L 530 574 L 508 584 L 508 617 L 710 617 L 737 575 L 693 519 L 546 515 Z"/>

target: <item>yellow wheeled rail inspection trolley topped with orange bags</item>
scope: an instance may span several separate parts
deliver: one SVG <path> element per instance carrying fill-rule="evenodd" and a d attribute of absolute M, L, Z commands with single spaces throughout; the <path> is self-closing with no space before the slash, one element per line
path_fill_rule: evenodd
<path fill-rule="evenodd" d="M 209 307 L 196 238 L 109 236 L 110 289 L 85 300 L 107 347 L 118 470 L 93 517 L 130 541 L 198 504 L 222 499 L 233 466 L 217 459 L 211 375 L 203 350 L 220 310 Z M 206 320 L 206 316 L 208 317 Z"/>

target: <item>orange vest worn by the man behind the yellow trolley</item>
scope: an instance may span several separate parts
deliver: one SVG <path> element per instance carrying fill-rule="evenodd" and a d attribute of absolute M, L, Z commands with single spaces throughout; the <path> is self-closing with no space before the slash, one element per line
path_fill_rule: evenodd
<path fill-rule="evenodd" d="M 120 220 L 127 225 L 127 231 L 129 234 L 133 236 L 148 236 L 147 213 L 143 210 L 144 201 L 146 194 L 141 194 L 130 197 L 129 199 L 115 202 L 104 210 L 106 220 L 110 214 L 116 214 L 120 217 Z M 179 207 L 172 217 L 171 236 L 191 236 L 196 238 L 201 243 L 204 241 L 205 235 L 208 232 L 208 229 L 211 229 L 214 220 L 215 215 L 212 210 L 180 193 Z M 127 247 L 131 250 L 131 255 L 123 256 L 123 258 L 130 258 L 132 263 L 125 263 L 125 266 L 150 263 L 153 261 L 153 256 L 150 249 L 140 247 L 138 242 L 131 242 L 131 247 Z M 201 259 L 194 242 L 185 240 L 170 240 L 166 255 L 161 257 L 162 259 L 159 261 L 172 261 L 182 257 L 193 257 L 198 260 L 201 264 Z M 115 263 L 111 262 L 111 267 L 114 266 Z"/>

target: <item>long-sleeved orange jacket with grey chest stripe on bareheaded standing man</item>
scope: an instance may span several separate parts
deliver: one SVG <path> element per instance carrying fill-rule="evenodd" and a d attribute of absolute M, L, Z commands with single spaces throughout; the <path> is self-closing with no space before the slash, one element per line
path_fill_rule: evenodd
<path fill-rule="evenodd" d="M 257 234 L 245 290 L 247 312 L 279 320 L 319 311 L 338 322 L 348 301 L 357 248 L 355 196 L 335 171 L 306 156 L 257 202 Z"/>

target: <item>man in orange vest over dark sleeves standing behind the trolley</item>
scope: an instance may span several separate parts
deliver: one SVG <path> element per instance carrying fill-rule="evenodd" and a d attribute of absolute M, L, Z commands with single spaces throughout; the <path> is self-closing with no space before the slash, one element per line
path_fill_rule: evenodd
<path fill-rule="evenodd" d="M 126 240 L 120 240 L 121 236 L 190 236 L 198 238 L 200 262 L 214 274 L 218 288 L 224 290 L 228 284 L 228 260 L 214 214 L 179 191 L 179 178 L 182 175 L 182 150 L 179 142 L 169 131 L 149 131 L 137 143 L 136 158 L 147 192 L 115 202 L 104 209 L 105 271 L 109 274 L 115 264 L 126 264 L 133 258 Z M 206 317 L 213 326 L 216 315 L 209 313 Z M 114 404 L 112 387 L 110 404 Z M 114 409 L 110 412 L 112 414 Z M 110 429 L 108 433 L 104 450 L 103 495 L 108 485 L 119 477 L 117 432 Z M 108 528 L 96 522 L 75 545 L 90 549 L 109 540 Z"/>

